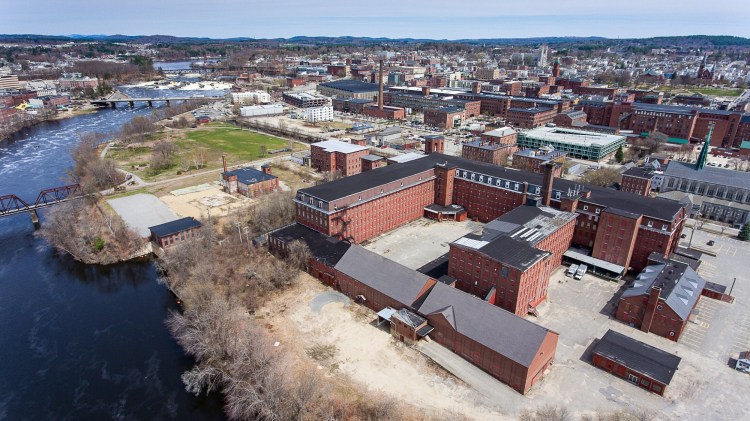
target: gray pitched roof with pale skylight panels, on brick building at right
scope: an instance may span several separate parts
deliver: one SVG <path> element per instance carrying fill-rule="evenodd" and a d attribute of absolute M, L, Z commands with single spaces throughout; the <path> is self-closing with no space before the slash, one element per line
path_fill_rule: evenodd
<path fill-rule="evenodd" d="M 661 288 L 659 298 L 683 320 L 687 320 L 705 285 L 706 281 L 690 266 L 669 261 L 665 264 L 646 266 L 633 282 L 633 286 L 622 293 L 622 297 L 648 295 L 652 287 Z"/>

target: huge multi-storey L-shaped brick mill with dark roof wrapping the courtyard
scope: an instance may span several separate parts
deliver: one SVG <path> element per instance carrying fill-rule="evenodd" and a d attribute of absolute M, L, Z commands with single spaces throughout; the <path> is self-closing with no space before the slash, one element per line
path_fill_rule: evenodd
<path fill-rule="evenodd" d="M 677 246 L 686 218 L 683 204 L 582 186 L 552 171 L 554 166 L 548 176 L 432 153 L 300 189 L 297 221 L 360 243 L 424 216 L 433 204 L 460 207 L 469 218 L 489 222 L 536 196 L 579 214 L 573 244 L 588 251 L 589 263 L 613 264 L 603 265 L 619 272 L 613 276 L 641 270 L 651 252 L 669 255 Z"/>

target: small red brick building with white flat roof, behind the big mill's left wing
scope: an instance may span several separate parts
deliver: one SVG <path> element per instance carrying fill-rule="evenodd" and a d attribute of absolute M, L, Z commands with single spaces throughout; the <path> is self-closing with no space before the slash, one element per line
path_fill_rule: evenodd
<path fill-rule="evenodd" d="M 313 168 L 322 172 L 341 171 L 341 175 L 362 172 L 362 160 L 370 154 L 366 146 L 353 145 L 338 140 L 326 140 L 310 145 L 310 162 Z"/>

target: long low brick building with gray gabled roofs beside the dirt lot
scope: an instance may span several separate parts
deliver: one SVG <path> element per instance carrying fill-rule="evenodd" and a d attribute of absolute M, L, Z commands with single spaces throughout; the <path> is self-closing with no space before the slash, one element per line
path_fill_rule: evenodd
<path fill-rule="evenodd" d="M 558 334 L 363 247 L 292 224 L 269 234 L 283 253 L 293 241 L 312 254 L 309 272 L 378 312 L 403 342 L 429 336 L 519 393 L 555 359 Z"/>

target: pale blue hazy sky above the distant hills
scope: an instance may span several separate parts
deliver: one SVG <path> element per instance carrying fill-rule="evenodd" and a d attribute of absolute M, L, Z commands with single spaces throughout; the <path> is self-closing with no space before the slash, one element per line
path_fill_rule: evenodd
<path fill-rule="evenodd" d="M 211 38 L 750 37 L 747 0 L 2 1 L 0 33 Z M 712 10 L 708 10 L 711 6 Z"/>

